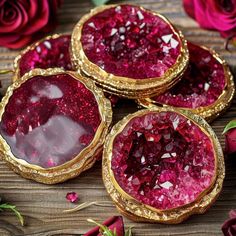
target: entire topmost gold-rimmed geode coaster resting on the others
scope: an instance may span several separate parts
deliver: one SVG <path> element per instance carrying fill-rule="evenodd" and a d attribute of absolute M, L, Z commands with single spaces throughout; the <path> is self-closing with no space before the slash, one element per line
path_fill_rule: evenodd
<path fill-rule="evenodd" d="M 107 92 L 128 98 L 173 86 L 188 63 L 186 40 L 162 15 L 133 5 L 95 8 L 75 26 L 72 63 Z"/>

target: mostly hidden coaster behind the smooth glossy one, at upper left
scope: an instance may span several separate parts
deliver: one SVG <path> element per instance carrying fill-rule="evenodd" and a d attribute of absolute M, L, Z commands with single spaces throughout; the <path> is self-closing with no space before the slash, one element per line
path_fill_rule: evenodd
<path fill-rule="evenodd" d="M 73 70 L 70 58 L 70 35 L 54 34 L 27 47 L 15 58 L 13 81 L 16 81 L 32 69 L 62 68 Z M 105 94 L 113 106 L 119 98 L 112 94 Z"/>

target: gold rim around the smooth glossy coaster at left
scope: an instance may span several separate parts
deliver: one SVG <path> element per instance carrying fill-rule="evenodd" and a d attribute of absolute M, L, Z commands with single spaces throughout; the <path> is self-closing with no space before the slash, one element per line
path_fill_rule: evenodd
<path fill-rule="evenodd" d="M 76 177 L 84 170 L 90 168 L 96 161 L 97 156 L 101 153 L 102 145 L 105 141 L 106 134 L 108 133 L 109 126 L 112 121 L 112 110 L 111 104 L 108 99 L 105 98 L 102 90 L 98 88 L 93 81 L 88 78 L 82 77 L 76 72 L 64 71 L 60 68 L 50 69 L 34 69 L 26 73 L 23 77 L 15 81 L 11 86 L 8 87 L 6 95 L 3 97 L 0 104 L 0 120 L 5 111 L 5 107 L 13 94 L 13 91 L 20 87 L 22 83 L 35 76 L 50 76 L 58 74 L 68 74 L 73 78 L 79 80 L 90 90 L 98 104 L 99 113 L 101 117 L 101 123 L 95 133 L 94 139 L 91 143 L 83 149 L 76 157 L 72 160 L 64 163 L 63 165 L 42 168 L 37 165 L 29 164 L 28 162 L 16 158 L 11 152 L 10 146 L 0 135 L 0 153 L 2 158 L 8 163 L 8 165 L 17 173 L 25 178 L 33 179 L 38 182 L 46 184 L 54 184 L 63 182 L 67 179 Z"/>

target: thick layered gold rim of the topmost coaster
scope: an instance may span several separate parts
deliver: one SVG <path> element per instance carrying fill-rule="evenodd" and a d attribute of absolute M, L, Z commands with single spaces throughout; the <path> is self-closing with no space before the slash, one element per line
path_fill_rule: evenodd
<path fill-rule="evenodd" d="M 92 63 L 84 53 L 82 43 L 80 41 L 82 35 L 83 24 L 92 16 L 100 13 L 106 9 L 120 6 L 123 4 L 113 4 L 106 6 L 99 6 L 92 9 L 89 13 L 84 15 L 80 21 L 74 27 L 71 36 L 71 58 L 77 70 L 83 71 L 87 76 L 90 76 L 96 83 L 106 89 L 106 91 L 128 98 L 142 98 L 155 94 L 159 94 L 160 90 L 166 90 L 183 70 L 186 69 L 189 61 L 189 52 L 187 48 L 187 41 L 184 39 L 181 31 L 175 29 L 175 27 L 164 16 L 137 6 L 140 9 L 151 12 L 152 14 L 160 17 L 165 21 L 172 29 L 173 33 L 178 37 L 181 43 L 181 51 L 176 63 L 170 67 L 163 76 L 157 78 L 148 79 L 132 79 L 128 77 L 115 76 L 111 73 L 107 73 L 96 64 Z M 132 4 L 133 5 L 133 4 Z M 135 6 L 135 5 L 133 5 Z"/>

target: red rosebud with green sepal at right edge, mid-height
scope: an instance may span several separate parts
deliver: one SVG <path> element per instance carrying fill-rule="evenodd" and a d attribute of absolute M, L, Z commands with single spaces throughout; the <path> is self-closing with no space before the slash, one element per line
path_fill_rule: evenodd
<path fill-rule="evenodd" d="M 226 154 L 236 153 L 236 120 L 230 121 L 224 131 Z"/>

